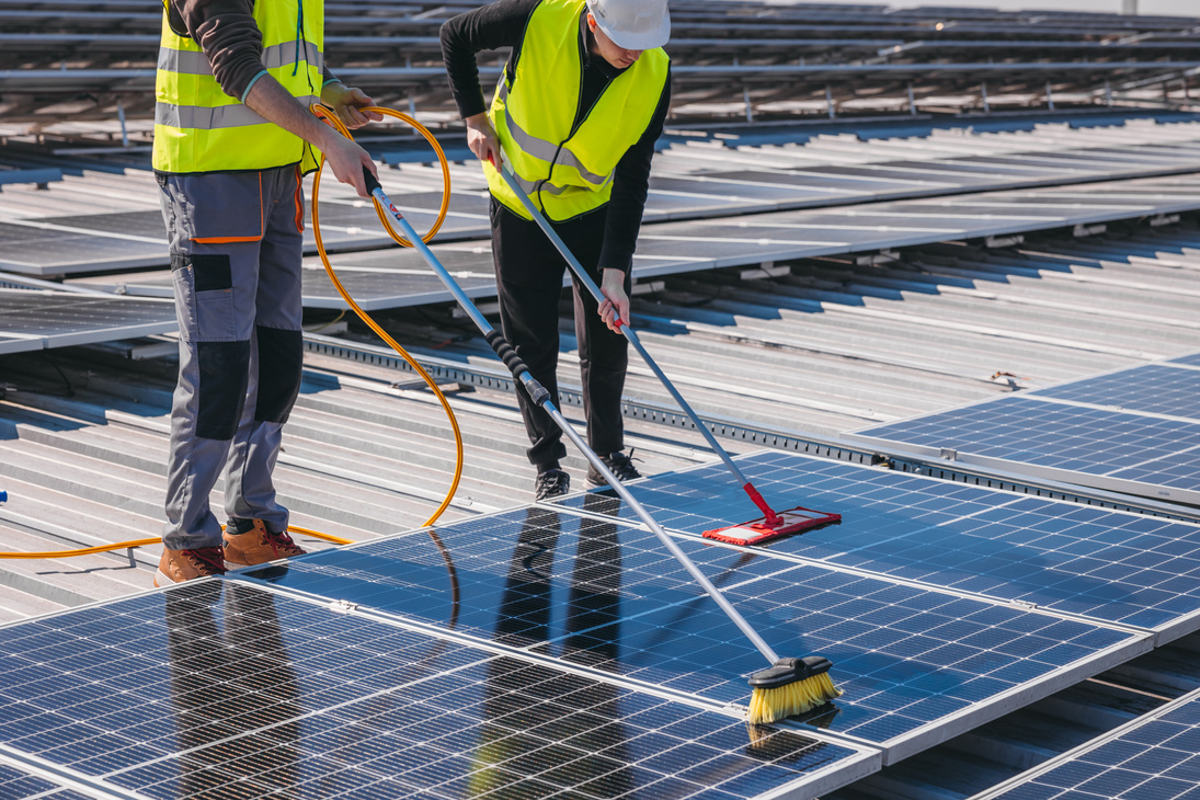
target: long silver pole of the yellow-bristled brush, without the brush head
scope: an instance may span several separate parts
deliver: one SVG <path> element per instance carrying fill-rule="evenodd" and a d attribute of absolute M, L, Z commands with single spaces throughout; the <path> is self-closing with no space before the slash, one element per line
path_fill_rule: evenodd
<path fill-rule="evenodd" d="M 716 601 L 716 604 L 721 607 L 721 610 L 724 610 L 730 620 L 732 620 L 733 624 L 737 625 L 743 633 L 745 633 L 746 638 L 750 639 L 758 651 L 762 652 L 762 655 L 766 656 L 772 663 L 779 661 L 779 656 L 770 649 L 770 645 L 767 644 L 761 636 L 758 636 L 758 632 L 750 626 L 750 622 L 748 622 L 742 614 L 738 613 L 738 609 L 725 599 L 721 590 L 713 585 L 713 582 L 700 571 L 700 567 L 697 567 L 696 564 L 688 558 L 688 554 L 679 548 L 679 545 L 677 545 L 676 541 L 671 539 L 665 530 L 662 530 L 661 525 L 654 521 L 654 517 L 649 515 L 646 507 L 642 506 L 642 504 L 638 503 L 632 494 L 630 494 L 629 489 L 626 489 L 622 482 L 617 480 L 617 476 L 612 474 L 612 470 L 610 470 L 608 467 L 600 461 L 600 457 L 596 456 L 583 438 L 576 433 L 575 428 L 571 427 L 571 423 L 566 421 L 566 417 L 564 417 L 563 414 L 554 407 L 550 392 L 532 374 L 529 374 L 528 367 L 517 355 L 516 350 L 512 349 L 499 331 L 492 327 L 492 324 L 488 323 L 487 318 L 479 312 L 479 308 L 475 307 L 475 303 L 472 302 L 470 297 L 468 297 L 467 294 L 458 287 L 458 283 L 454 279 L 450 272 L 442 266 L 442 263 L 438 260 L 438 257 L 433 254 L 433 251 L 431 251 L 428 246 L 421 241 L 421 237 L 413 229 L 413 225 L 408 222 L 408 219 L 404 218 L 404 215 L 402 215 L 392 201 L 388 199 L 388 196 L 384 193 L 383 187 L 379 186 L 379 181 L 376 180 L 374 175 L 372 175 L 366 168 L 364 168 L 362 172 L 367 180 L 367 188 L 371 191 L 371 196 L 374 197 L 384 210 L 386 210 L 388 213 L 390 213 L 396 221 L 401 230 L 403 230 L 404 236 L 413 242 L 413 247 L 415 247 L 421 257 L 425 258 L 428 265 L 442 279 L 442 283 L 444 283 L 454 295 L 454 299 L 460 306 L 462 306 L 463 311 L 467 312 L 467 315 L 470 317 L 473 323 L 475 323 L 475 326 L 484 333 L 487 343 L 492 345 L 496 354 L 502 361 L 504 361 L 504 365 L 512 373 L 512 377 L 521 381 L 526 391 L 529 392 L 529 397 L 533 398 L 534 403 L 540 405 L 546 414 L 550 415 L 554 423 L 562 428 L 563 433 L 566 434 L 566 438 L 570 439 L 576 447 L 578 447 L 580 452 L 582 452 L 584 458 L 588 459 L 588 463 L 592 464 L 593 469 L 604 475 L 605 480 L 608 481 L 608 485 L 617 491 L 617 494 L 620 495 L 620 499 L 629 504 L 629 507 L 631 507 L 638 518 L 646 523 L 650 531 L 658 536 L 659 541 L 662 542 L 662 546 L 666 547 L 673 557 L 676 557 L 685 570 L 688 570 L 689 575 L 691 575 L 696 583 L 698 583 L 701 588 L 708 593 L 709 597 Z"/>

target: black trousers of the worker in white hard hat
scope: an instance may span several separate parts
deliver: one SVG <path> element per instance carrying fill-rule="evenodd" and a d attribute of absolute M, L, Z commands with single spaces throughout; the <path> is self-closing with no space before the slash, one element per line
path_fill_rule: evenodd
<path fill-rule="evenodd" d="M 500 331 L 516 348 L 530 374 L 550 391 L 558 405 L 558 299 L 566 260 L 538 227 L 492 198 L 492 254 L 500 301 Z M 604 245 L 606 209 L 599 209 L 554 230 L 600 284 L 598 264 Z M 608 330 L 596 313 L 598 303 L 572 277 L 575 336 L 580 345 L 583 383 L 583 416 L 588 445 L 600 455 L 624 449 L 620 395 L 625 387 L 629 349 L 625 337 Z M 632 279 L 626 273 L 625 293 Z M 529 463 L 541 469 L 556 467 L 566 456 L 563 432 L 529 393 L 517 384 L 517 404 L 529 434 Z"/>

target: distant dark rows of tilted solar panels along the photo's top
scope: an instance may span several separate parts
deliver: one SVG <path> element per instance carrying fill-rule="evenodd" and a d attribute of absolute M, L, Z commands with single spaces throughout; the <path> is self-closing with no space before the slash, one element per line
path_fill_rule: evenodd
<path fill-rule="evenodd" d="M 425 108 L 450 109 L 438 26 L 474 5 L 331 4 L 325 20 L 330 64 L 376 100 L 413 98 Z M 82 91 L 101 98 L 78 114 L 113 118 L 113 96 L 124 98 L 126 114 L 152 109 L 145 90 L 154 80 L 161 24 L 152 10 L 119 0 L 5 0 L 0 20 L 6 31 L 0 66 L 11 70 L 0 73 L 0 88 L 16 101 L 7 110 L 11 119 L 32 119 L 64 94 Z M 1147 79 L 1157 88 L 1164 77 L 1175 79 L 1195 67 L 1194 26 L 1187 18 L 1040 11 L 898 13 L 860 6 L 797 13 L 766 4 L 682 4 L 672 6 L 671 52 L 680 107 L 746 101 L 761 109 L 797 100 L 820 104 L 827 86 L 838 103 L 877 103 L 882 92 L 895 104 L 910 85 L 918 100 L 959 94 L 972 96 L 967 104 L 974 106 L 973 96 L 982 95 L 980 84 L 988 82 L 991 103 L 1006 102 L 1006 95 L 1019 97 L 1007 101 L 1014 104 L 1028 102 L 1031 95 L 1040 98 L 1048 82 L 1060 95 L 1078 91 L 1103 102 L 1105 82 L 1121 90 Z M 979 40 L 984 47 L 977 46 Z M 487 54 L 485 80 L 494 80 L 496 61 L 505 55 Z M 874 91 L 860 95 L 866 86 Z M 1180 90 L 1181 97 L 1184 94 Z M 769 113 L 769 106 L 763 110 Z"/>

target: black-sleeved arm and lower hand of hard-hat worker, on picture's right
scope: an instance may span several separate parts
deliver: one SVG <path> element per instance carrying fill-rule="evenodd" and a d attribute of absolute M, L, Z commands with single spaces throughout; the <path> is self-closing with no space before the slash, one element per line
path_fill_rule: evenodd
<path fill-rule="evenodd" d="M 650 124 L 638 140 L 625 151 L 613 174 L 612 197 L 605 217 L 604 243 L 600 247 L 600 291 L 606 300 L 600 303 L 600 317 L 612 330 L 613 311 L 625 323 L 629 321 L 629 297 L 625 294 L 625 273 L 634 269 L 634 251 L 637 233 L 642 227 L 642 212 L 649 193 L 650 163 L 654 146 L 662 136 L 667 109 L 671 106 L 671 76 L 667 74 L 659 104 Z"/>

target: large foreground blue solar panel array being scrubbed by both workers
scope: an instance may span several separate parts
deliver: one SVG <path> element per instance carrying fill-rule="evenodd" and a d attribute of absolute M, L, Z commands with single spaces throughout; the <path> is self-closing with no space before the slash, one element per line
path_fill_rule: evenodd
<path fill-rule="evenodd" d="M 0 741 L 115 796 L 817 796 L 1200 628 L 1200 525 L 740 457 L 842 523 L 745 551 L 719 465 L 630 488 L 845 694 L 746 729 L 742 632 L 604 493 L 0 627 Z M 764 750 L 766 748 L 766 750 Z M 19 795 L 18 795 L 19 796 Z"/>

